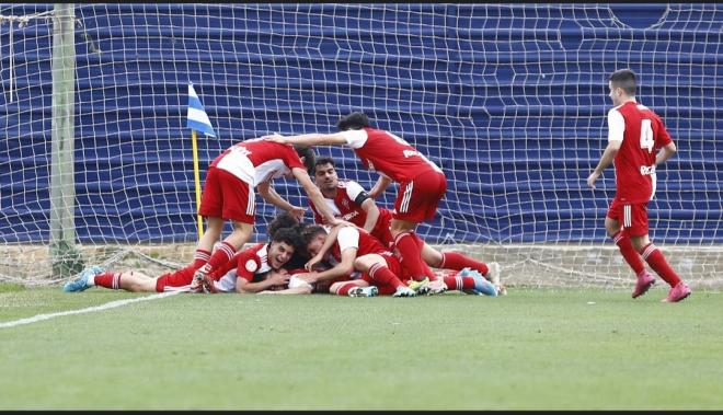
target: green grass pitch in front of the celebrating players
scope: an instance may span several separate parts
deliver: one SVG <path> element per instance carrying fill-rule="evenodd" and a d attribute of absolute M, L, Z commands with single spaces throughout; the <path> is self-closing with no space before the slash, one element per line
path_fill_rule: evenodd
<path fill-rule="evenodd" d="M 0 328 L 1 410 L 721 410 L 723 295 L 176 295 Z M 150 296 L 0 285 L 0 324 Z"/>

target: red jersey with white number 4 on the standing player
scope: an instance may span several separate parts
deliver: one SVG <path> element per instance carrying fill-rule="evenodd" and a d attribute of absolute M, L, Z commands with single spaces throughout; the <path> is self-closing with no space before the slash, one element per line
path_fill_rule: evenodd
<path fill-rule="evenodd" d="M 652 109 L 627 102 L 608 112 L 608 140 L 622 140 L 615 157 L 616 197 L 626 204 L 647 203 L 655 194 L 655 155 L 673 142 Z"/>

